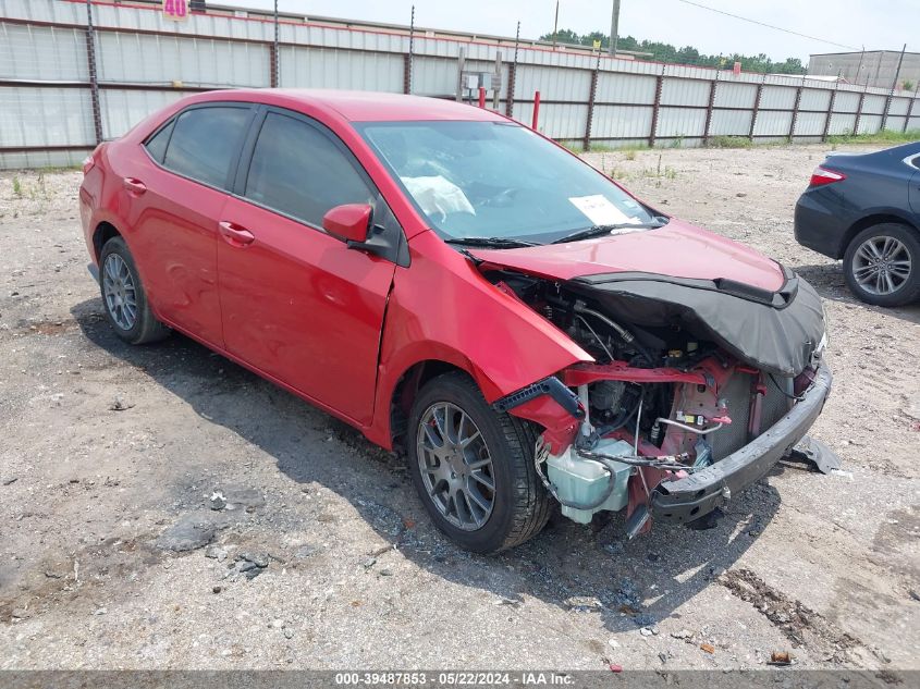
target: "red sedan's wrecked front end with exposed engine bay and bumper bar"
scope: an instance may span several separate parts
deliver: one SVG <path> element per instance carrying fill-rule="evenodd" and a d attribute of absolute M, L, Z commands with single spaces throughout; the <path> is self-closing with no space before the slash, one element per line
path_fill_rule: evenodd
<path fill-rule="evenodd" d="M 652 518 L 708 526 L 793 452 L 830 393 L 821 300 L 789 271 L 768 292 L 643 273 L 553 281 L 480 269 L 596 359 L 495 403 L 544 429 L 537 471 L 575 521 L 625 508 L 630 538 Z"/>

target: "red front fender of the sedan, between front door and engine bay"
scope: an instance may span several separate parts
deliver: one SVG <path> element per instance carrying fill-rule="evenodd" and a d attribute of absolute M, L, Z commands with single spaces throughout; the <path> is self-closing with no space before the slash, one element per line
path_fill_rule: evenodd
<path fill-rule="evenodd" d="M 412 269 L 396 269 L 380 343 L 373 427 L 389 447 L 393 392 L 414 365 L 446 361 L 467 371 L 490 404 L 593 357 L 433 232 L 409 241 Z"/>

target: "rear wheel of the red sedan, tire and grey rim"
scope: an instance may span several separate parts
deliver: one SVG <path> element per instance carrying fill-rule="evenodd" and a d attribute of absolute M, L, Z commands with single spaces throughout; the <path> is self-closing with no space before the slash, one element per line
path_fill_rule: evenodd
<path fill-rule="evenodd" d="M 170 334 L 147 303 L 134 257 L 121 237 L 112 237 L 99 257 L 102 307 L 115 334 L 128 344 L 157 342 Z"/>

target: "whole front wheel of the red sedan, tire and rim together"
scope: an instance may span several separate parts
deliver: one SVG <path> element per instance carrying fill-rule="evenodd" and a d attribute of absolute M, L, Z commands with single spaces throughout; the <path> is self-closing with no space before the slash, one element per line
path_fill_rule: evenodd
<path fill-rule="evenodd" d="M 427 383 L 409 413 L 408 465 L 434 525 L 476 553 L 536 536 L 551 502 L 533 467 L 533 428 L 492 409 L 463 373 Z"/>

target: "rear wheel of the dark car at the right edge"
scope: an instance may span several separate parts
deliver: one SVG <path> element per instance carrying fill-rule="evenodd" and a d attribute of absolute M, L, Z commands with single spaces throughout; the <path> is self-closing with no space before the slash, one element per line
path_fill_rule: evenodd
<path fill-rule="evenodd" d="M 844 256 L 844 276 L 856 296 L 875 306 L 920 298 L 920 238 L 916 230 L 881 223 L 860 232 Z"/>

